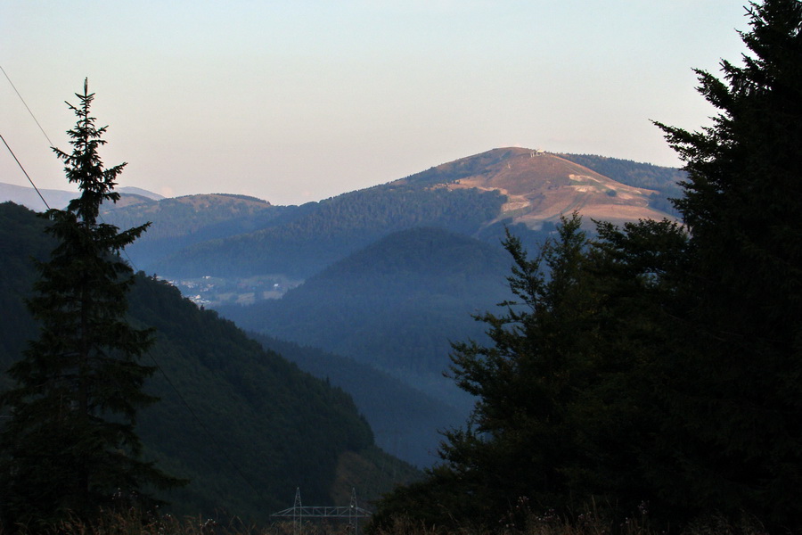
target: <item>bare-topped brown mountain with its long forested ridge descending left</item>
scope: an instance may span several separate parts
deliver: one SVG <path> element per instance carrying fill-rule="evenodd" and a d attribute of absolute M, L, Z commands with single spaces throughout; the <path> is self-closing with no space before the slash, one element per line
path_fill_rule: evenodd
<path fill-rule="evenodd" d="M 525 235 L 547 234 L 561 214 L 574 210 L 588 221 L 670 218 L 667 196 L 675 193 L 682 173 L 617 162 L 615 166 L 600 157 L 495 149 L 385 185 L 271 210 L 275 215 L 238 215 L 232 222 L 240 226 L 231 228 L 238 234 L 224 236 L 216 226 L 213 239 L 180 251 L 149 251 L 147 261 L 149 269 L 165 276 L 281 273 L 306 278 L 383 236 L 415 226 L 438 226 L 497 243 L 503 226 L 516 226 Z M 616 177 L 588 165 L 616 170 Z M 128 217 L 135 208 L 127 209 Z M 110 210 L 111 220 L 115 211 Z M 138 214 L 139 220 L 144 216 Z M 240 232 L 251 224 L 258 228 Z M 206 230 L 211 228 L 195 235 L 205 237 Z"/>

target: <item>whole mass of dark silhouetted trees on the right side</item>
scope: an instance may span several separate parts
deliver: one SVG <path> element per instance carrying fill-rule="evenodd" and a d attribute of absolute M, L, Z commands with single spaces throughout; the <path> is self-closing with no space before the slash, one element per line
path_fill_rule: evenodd
<path fill-rule="evenodd" d="M 471 422 L 377 524 L 498 525 L 526 497 L 802 529 L 802 3 L 748 11 L 744 65 L 699 72 L 713 126 L 658 123 L 689 173 L 687 233 L 600 224 L 589 240 L 575 217 L 534 260 L 510 238 L 520 303 L 480 318 L 490 347 L 454 346 Z"/>

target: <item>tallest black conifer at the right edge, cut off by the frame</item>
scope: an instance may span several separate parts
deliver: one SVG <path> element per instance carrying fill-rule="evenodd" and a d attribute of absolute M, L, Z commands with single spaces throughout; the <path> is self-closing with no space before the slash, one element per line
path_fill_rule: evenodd
<path fill-rule="evenodd" d="M 699 71 L 720 112 L 701 132 L 659 125 L 689 178 L 692 351 L 671 403 L 675 498 L 802 525 L 802 2 L 749 9 L 750 53 Z M 666 450 L 666 454 L 668 453 Z M 700 454 L 701 452 L 701 454 Z"/>

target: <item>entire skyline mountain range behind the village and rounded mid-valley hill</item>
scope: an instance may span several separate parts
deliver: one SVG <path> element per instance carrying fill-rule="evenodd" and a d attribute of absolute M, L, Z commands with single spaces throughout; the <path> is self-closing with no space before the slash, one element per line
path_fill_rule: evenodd
<path fill-rule="evenodd" d="M 163 199 L 120 188 L 103 216 L 153 225 L 128 251 L 137 267 L 168 277 L 282 274 L 306 278 L 391 232 L 439 226 L 495 242 L 503 225 L 551 230 L 561 214 L 623 222 L 672 217 L 679 169 L 591 155 L 494 149 L 385 185 L 302 206 L 226 194 Z M 45 190 L 52 206 L 74 193 Z M 0 185 L 0 200 L 41 210 L 31 188 Z"/>

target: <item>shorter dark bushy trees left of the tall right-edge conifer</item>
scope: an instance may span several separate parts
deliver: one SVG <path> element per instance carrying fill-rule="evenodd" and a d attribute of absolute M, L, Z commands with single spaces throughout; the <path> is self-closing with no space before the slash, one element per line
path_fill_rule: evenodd
<path fill-rule="evenodd" d="M 674 342 L 673 273 L 688 236 L 670 221 L 589 239 L 575 214 L 534 259 L 508 235 L 515 301 L 479 317 L 492 341 L 454 344 L 452 373 L 477 397 L 445 461 L 385 498 L 374 521 L 498 525 L 525 498 L 535 511 L 598 498 L 622 514 L 655 496 L 648 444 L 665 419 L 658 363 Z"/>

